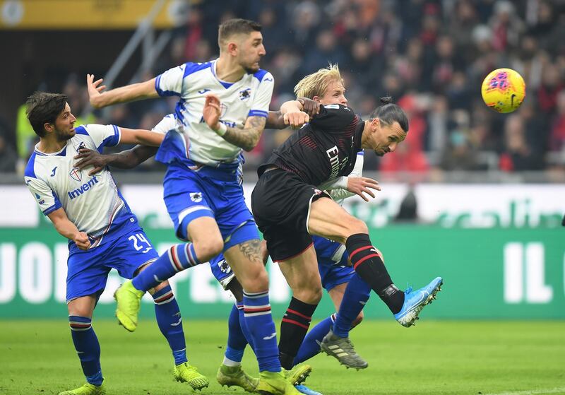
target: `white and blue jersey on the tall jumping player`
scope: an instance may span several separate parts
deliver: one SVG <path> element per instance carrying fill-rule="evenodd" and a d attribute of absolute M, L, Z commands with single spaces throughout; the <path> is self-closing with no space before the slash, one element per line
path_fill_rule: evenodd
<path fill-rule="evenodd" d="M 203 165 L 218 166 L 238 160 L 242 148 L 225 141 L 211 130 L 202 117 L 206 95 L 218 95 L 221 102 L 220 122 L 227 126 L 244 126 L 247 117 L 267 117 L 273 95 L 273 76 L 265 70 L 245 74 L 235 83 L 216 76 L 216 61 L 186 63 L 160 74 L 155 90 L 162 96 L 177 95 L 177 127 L 167 133 L 157 152 L 162 163 L 194 160 Z"/>

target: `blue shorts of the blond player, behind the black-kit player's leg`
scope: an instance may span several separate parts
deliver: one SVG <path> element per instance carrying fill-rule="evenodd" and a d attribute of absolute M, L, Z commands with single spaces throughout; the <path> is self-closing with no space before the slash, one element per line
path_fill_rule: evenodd
<path fill-rule="evenodd" d="M 329 292 L 336 285 L 348 283 L 355 274 L 355 269 L 347 266 L 349 255 L 345 246 L 320 236 L 313 236 L 312 240 L 318 257 L 322 287 Z"/>

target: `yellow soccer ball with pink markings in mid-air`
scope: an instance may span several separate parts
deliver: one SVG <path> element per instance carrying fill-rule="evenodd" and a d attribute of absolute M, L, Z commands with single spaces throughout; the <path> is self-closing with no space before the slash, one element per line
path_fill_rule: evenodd
<path fill-rule="evenodd" d="M 525 98 L 524 78 L 512 69 L 496 69 L 482 81 L 481 95 L 492 110 L 513 112 Z"/>

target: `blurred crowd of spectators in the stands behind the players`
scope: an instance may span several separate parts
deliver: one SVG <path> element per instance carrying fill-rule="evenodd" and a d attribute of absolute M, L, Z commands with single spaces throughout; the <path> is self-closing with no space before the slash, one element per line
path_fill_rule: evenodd
<path fill-rule="evenodd" d="M 350 107 L 362 117 L 387 95 L 407 112 L 405 143 L 384 158 L 366 155 L 366 170 L 565 171 L 564 1 L 224 0 L 187 8 L 186 22 L 143 78 L 185 61 L 215 59 L 218 23 L 254 19 L 263 25 L 267 50 L 261 67 L 275 76 L 271 109 L 293 98 L 302 76 L 332 63 L 340 67 Z M 513 114 L 497 114 L 481 99 L 483 78 L 500 67 L 525 79 L 526 99 Z M 82 76 L 69 77 L 61 91 L 82 122 L 151 129 L 174 110 L 172 98 L 88 114 Z M 17 115 L 20 161 L 35 143 L 24 111 Z M 246 154 L 246 170 L 290 134 L 265 131 Z M 15 155 L 4 146 L 0 134 L 0 171 L 14 170 Z M 139 170 L 148 168 L 153 163 Z"/>

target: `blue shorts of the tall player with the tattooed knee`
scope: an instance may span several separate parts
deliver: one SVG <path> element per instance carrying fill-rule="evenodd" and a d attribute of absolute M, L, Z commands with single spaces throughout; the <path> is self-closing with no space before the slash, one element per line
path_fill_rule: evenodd
<path fill-rule="evenodd" d="M 163 193 L 179 239 L 187 240 L 186 226 L 200 217 L 215 218 L 224 240 L 223 251 L 259 238 L 237 179 L 237 167 L 239 163 L 191 170 L 179 163 L 169 164 Z"/>

